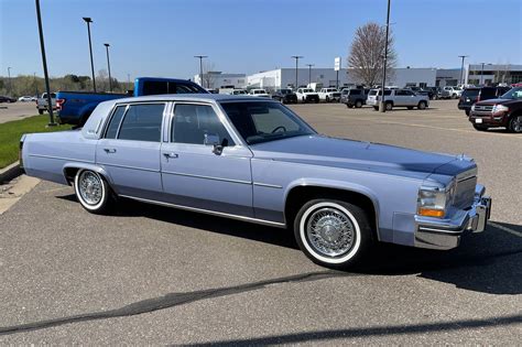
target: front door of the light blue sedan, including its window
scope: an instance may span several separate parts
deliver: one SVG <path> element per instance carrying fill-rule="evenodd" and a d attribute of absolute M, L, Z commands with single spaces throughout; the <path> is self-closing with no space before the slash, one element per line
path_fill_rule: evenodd
<path fill-rule="evenodd" d="M 175 205 L 252 217 L 252 153 L 233 141 L 218 113 L 211 105 L 174 106 L 168 141 L 161 148 L 164 198 Z"/>

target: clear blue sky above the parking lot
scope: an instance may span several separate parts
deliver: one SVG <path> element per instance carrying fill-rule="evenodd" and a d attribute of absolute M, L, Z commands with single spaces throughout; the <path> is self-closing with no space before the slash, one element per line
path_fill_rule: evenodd
<path fill-rule="evenodd" d="M 399 67 L 522 64 L 522 0 L 392 0 L 390 22 Z M 51 76 L 192 78 L 194 55 L 214 71 L 252 74 L 300 65 L 334 67 L 358 26 L 385 24 L 387 0 L 41 0 Z M 0 76 L 43 76 L 34 0 L 0 0 Z"/>

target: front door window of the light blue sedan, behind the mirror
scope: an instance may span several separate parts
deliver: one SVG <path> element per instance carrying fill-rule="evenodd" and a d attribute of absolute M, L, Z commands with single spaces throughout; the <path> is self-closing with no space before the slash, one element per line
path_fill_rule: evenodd
<path fill-rule="evenodd" d="M 176 105 L 171 133 L 172 142 L 204 144 L 205 134 L 218 135 L 222 145 L 235 144 L 210 106 Z"/>

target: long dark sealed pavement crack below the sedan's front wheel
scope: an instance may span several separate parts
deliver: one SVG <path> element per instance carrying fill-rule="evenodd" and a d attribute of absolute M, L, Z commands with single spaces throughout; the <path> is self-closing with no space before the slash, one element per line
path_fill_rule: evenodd
<path fill-rule="evenodd" d="M 208 289 L 194 292 L 182 292 L 182 293 L 168 293 L 160 297 L 148 299 L 139 301 L 129 305 L 126 305 L 120 308 L 102 311 L 102 312 L 93 312 L 78 315 L 72 315 L 67 317 L 59 317 L 54 319 L 46 319 L 33 323 L 26 323 L 21 325 L 6 326 L 0 327 L 0 335 L 9 335 L 15 333 L 23 333 L 29 330 L 39 330 L 50 327 L 55 327 L 65 324 L 79 323 L 86 321 L 98 321 L 98 319 L 108 319 L 126 316 L 134 316 L 143 313 L 151 313 L 159 310 L 171 308 L 200 300 L 220 297 L 227 295 L 233 295 L 250 291 L 257 291 L 263 289 L 271 284 L 283 284 L 283 283 L 297 283 L 297 282 L 308 282 L 308 281 L 319 281 L 328 278 L 336 276 L 349 276 L 355 275 L 352 273 L 346 273 L 341 271 L 320 271 L 320 272 L 308 272 L 303 274 L 296 274 L 284 278 L 276 278 L 265 281 L 259 281 L 253 283 L 246 283 L 240 285 L 218 288 L 218 289 Z"/>

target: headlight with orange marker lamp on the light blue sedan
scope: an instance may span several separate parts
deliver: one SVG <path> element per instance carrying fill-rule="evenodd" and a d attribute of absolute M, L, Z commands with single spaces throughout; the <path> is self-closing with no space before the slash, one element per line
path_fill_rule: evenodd
<path fill-rule="evenodd" d="M 445 189 L 421 188 L 417 198 L 417 214 L 426 217 L 443 218 L 455 195 L 452 182 Z"/>

